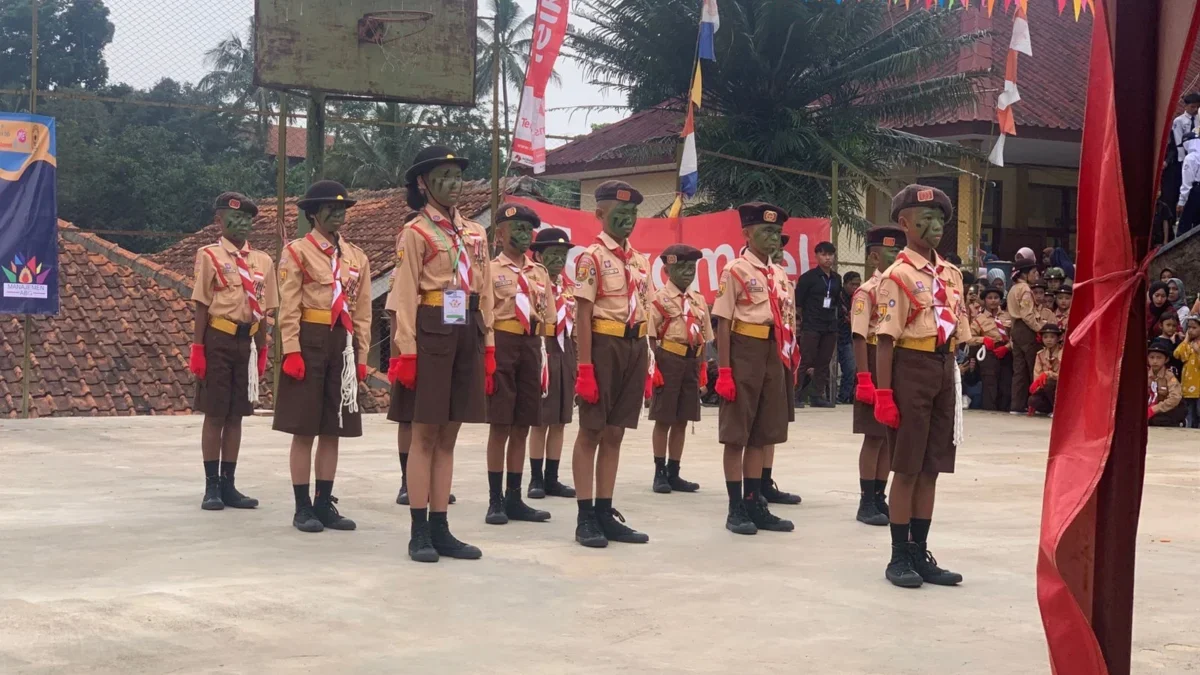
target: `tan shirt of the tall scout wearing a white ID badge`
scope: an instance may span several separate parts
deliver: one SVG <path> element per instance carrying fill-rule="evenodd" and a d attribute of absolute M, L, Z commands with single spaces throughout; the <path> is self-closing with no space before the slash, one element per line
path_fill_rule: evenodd
<path fill-rule="evenodd" d="M 409 221 L 400 231 L 396 243 L 396 271 L 391 280 L 391 292 L 388 294 L 388 311 L 396 316 L 396 339 L 394 354 L 416 353 L 416 307 L 421 294 L 446 288 L 461 288 L 457 270 L 457 253 L 451 244 L 451 237 L 438 223 L 446 223 L 460 233 L 470 261 L 470 288 L 462 288 L 479 294 L 479 311 L 484 315 L 484 345 L 493 346 L 496 336 L 492 333 L 492 265 L 487 250 L 487 231 L 475 221 L 454 213 L 454 219 L 446 221 L 432 207 L 426 207 L 420 217 Z"/>

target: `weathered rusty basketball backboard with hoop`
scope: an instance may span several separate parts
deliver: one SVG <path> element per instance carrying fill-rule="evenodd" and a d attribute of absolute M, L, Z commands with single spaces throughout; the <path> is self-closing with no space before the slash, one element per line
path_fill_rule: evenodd
<path fill-rule="evenodd" d="M 256 0 L 254 84 L 473 106 L 476 0 Z"/>

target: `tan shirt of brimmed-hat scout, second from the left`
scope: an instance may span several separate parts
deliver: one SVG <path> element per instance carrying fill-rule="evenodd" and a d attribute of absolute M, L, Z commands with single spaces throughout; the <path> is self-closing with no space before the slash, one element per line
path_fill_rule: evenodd
<path fill-rule="evenodd" d="M 316 229 L 310 234 L 317 240 L 316 245 L 307 237 L 294 239 L 284 246 L 283 259 L 280 262 L 278 322 L 284 354 L 300 351 L 301 311 L 330 311 L 334 305 L 332 259 L 319 247 L 322 243 L 332 243 Z M 350 244 L 344 237 L 338 237 L 338 240 L 346 310 L 350 312 L 354 324 L 358 362 L 365 364 L 371 351 L 371 263 L 362 249 Z"/>

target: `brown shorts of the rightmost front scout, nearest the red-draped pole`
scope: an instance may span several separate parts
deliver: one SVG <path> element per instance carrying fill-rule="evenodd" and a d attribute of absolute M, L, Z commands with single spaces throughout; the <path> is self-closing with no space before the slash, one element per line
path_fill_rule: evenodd
<path fill-rule="evenodd" d="M 892 390 L 900 429 L 888 429 L 892 471 L 954 473 L 954 353 L 892 352 Z"/>

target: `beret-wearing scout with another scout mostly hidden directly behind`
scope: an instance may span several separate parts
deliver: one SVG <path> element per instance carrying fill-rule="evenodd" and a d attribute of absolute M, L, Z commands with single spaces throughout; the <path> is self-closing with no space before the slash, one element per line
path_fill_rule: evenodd
<path fill-rule="evenodd" d="M 780 249 L 787 213 L 761 202 L 738 207 L 748 249 L 721 271 L 713 316 L 716 322 L 721 396 L 719 440 L 725 446 L 725 527 L 737 534 L 758 530 L 791 532 L 794 525 L 767 509 L 762 492 L 763 448 L 787 441 L 791 359 L 780 293 L 787 275 L 770 263 Z M 743 490 L 744 483 L 744 490 Z"/>

